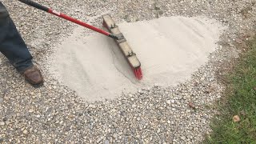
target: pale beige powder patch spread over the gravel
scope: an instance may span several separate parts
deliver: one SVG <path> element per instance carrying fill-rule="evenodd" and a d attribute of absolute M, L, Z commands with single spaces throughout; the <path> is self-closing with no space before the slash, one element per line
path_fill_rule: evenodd
<path fill-rule="evenodd" d="M 101 34 L 86 35 L 78 28 L 53 54 L 51 71 L 56 78 L 87 101 L 186 81 L 207 62 L 223 27 L 204 17 L 158 18 L 118 26 L 142 63 L 141 81 L 134 78 L 116 43 Z"/>

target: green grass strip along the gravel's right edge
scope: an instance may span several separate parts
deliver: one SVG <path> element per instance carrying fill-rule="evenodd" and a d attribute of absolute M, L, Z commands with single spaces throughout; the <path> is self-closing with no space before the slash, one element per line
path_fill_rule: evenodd
<path fill-rule="evenodd" d="M 212 122 L 206 143 L 256 144 L 256 38 L 225 77 L 226 98 L 219 105 L 221 114 Z M 234 122 L 238 115 L 240 122 Z"/>

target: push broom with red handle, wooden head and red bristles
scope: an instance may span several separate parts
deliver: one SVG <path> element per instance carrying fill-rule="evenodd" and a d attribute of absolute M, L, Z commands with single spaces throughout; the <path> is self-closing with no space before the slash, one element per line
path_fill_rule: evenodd
<path fill-rule="evenodd" d="M 138 61 L 138 58 L 133 50 L 131 50 L 128 42 L 126 42 L 126 38 L 123 36 L 123 34 L 120 32 L 118 26 L 114 23 L 114 20 L 110 17 L 109 14 L 103 15 L 103 26 L 106 27 L 108 31 L 101 30 L 98 27 L 91 26 L 87 24 L 86 22 L 79 21 L 78 19 L 71 18 L 70 16 L 67 16 L 66 14 L 59 13 L 58 11 L 52 10 L 46 6 L 42 6 L 38 4 L 37 2 L 33 2 L 30 0 L 18 0 L 20 2 L 25 3 L 26 5 L 33 6 L 34 8 L 37 8 L 39 10 L 46 11 L 47 13 L 54 14 L 60 18 L 64 18 L 70 22 L 74 22 L 80 26 L 84 26 L 90 30 L 94 30 L 100 34 L 104 34 L 110 38 L 113 38 L 115 42 L 117 42 L 120 50 L 122 51 L 122 54 L 124 54 L 127 62 L 130 64 L 130 67 L 134 71 L 134 75 L 138 80 L 142 79 L 142 69 L 141 69 L 141 63 Z"/>

